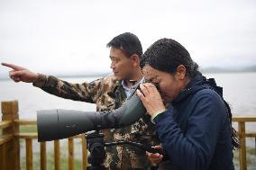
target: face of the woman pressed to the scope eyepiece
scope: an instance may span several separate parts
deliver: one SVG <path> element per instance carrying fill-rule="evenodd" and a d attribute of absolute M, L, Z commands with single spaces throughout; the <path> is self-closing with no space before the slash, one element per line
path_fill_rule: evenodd
<path fill-rule="evenodd" d="M 146 81 L 159 85 L 160 96 L 165 103 L 172 102 L 182 89 L 182 84 L 176 73 L 170 75 L 149 65 L 143 67 L 142 73 Z"/>

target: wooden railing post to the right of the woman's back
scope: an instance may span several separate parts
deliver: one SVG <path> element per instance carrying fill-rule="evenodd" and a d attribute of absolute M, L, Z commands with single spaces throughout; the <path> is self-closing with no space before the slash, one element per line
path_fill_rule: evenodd
<path fill-rule="evenodd" d="M 246 146 L 245 146 L 245 122 L 244 121 L 238 122 L 238 134 L 239 134 L 239 141 L 240 141 L 240 148 L 239 148 L 240 169 L 246 170 Z"/>

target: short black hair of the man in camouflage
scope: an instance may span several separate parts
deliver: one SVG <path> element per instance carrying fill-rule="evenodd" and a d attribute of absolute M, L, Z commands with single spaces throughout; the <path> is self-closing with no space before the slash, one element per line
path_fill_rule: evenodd
<path fill-rule="evenodd" d="M 110 40 L 106 47 L 122 49 L 127 58 L 130 58 L 133 54 L 137 54 L 139 58 L 142 58 L 142 43 L 136 35 L 131 32 L 124 32 Z"/>

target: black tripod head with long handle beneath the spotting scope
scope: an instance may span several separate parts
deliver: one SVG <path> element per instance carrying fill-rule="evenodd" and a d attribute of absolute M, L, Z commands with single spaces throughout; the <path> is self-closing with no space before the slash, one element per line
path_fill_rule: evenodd
<path fill-rule="evenodd" d="M 92 131 L 86 134 L 87 139 L 87 148 L 90 152 L 88 157 L 88 163 L 91 164 L 90 167 L 87 167 L 88 170 L 104 170 L 103 166 L 105 160 L 105 147 L 115 146 L 115 145 L 132 145 L 142 150 L 151 152 L 151 153 L 160 153 L 164 157 L 167 157 L 167 154 L 161 148 L 151 148 L 150 144 L 141 144 L 131 141 L 117 141 L 111 143 L 105 143 L 104 135 L 99 133 L 98 130 Z"/>

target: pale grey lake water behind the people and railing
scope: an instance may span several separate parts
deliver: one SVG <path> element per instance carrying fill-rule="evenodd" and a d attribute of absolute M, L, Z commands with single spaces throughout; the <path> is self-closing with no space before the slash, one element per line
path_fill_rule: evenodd
<path fill-rule="evenodd" d="M 206 74 L 215 77 L 217 85 L 224 87 L 224 99 L 230 103 L 233 114 L 256 115 L 256 73 Z M 72 83 L 90 82 L 98 77 L 62 78 Z M 0 101 L 19 101 L 21 119 L 36 119 L 36 111 L 46 109 L 69 109 L 96 111 L 92 103 L 75 102 L 43 92 L 26 83 L 11 80 L 0 81 Z M 256 130 L 256 123 L 248 123 L 247 130 Z M 234 126 L 236 126 L 234 124 Z"/>

